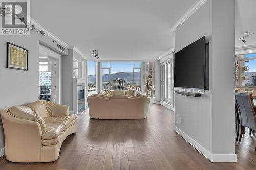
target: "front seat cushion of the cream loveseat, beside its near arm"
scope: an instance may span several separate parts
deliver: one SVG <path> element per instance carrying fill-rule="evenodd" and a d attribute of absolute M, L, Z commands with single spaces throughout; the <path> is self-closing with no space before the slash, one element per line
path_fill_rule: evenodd
<path fill-rule="evenodd" d="M 62 123 L 47 123 L 46 129 L 47 131 L 42 134 L 42 140 L 57 138 L 65 129 L 65 125 Z"/>

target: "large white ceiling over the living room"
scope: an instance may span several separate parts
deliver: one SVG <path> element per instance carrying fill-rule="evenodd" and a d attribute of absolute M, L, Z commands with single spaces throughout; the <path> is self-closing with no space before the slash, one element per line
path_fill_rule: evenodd
<path fill-rule="evenodd" d="M 174 47 L 170 28 L 196 0 L 30 1 L 30 15 L 87 59 L 146 60 Z"/>

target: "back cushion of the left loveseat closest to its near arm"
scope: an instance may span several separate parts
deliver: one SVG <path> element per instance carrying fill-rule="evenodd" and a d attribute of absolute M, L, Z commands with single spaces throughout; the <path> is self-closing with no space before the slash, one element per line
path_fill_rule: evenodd
<path fill-rule="evenodd" d="M 48 101 L 35 101 L 33 103 L 28 104 L 27 106 L 30 107 L 34 113 L 34 115 L 38 117 L 50 117 L 49 109 L 46 107 L 46 102 Z"/>

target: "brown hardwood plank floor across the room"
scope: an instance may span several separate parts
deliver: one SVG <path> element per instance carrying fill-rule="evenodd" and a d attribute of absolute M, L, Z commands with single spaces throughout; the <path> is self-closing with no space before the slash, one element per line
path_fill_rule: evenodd
<path fill-rule="evenodd" d="M 211 163 L 174 130 L 174 113 L 150 104 L 143 120 L 95 120 L 78 115 L 78 132 L 62 144 L 50 163 L 13 163 L 0 169 L 256 169 L 256 136 L 236 143 L 237 163 Z"/>

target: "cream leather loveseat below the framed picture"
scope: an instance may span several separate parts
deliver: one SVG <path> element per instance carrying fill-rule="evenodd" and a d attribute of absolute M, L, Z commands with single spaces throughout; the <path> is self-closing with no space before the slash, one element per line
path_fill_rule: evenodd
<path fill-rule="evenodd" d="M 5 156 L 12 162 L 51 162 L 58 159 L 66 137 L 77 131 L 77 115 L 69 107 L 48 101 L 12 106 L 0 111 Z"/>

